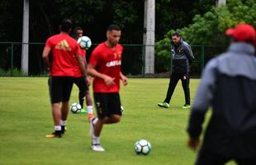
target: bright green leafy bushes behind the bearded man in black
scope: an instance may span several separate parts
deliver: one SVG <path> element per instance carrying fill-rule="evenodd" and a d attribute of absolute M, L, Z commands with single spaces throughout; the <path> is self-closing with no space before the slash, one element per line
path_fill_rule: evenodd
<path fill-rule="evenodd" d="M 194 16 L 191 25 L 176 29 L 176 31 L 180 31 L 183 39 L 190 45 L 228 45 L 229 38 L 225 36 L 225 30 L 239 23 L 256 26 L 256 3 L 254 0 L 230 0 L 226 6 L 212 7 L 211 11 L 206 12 L 203 16 Z M 169 45 L 169 38 L 173 31 L 175 30 L 168 31 L 164 40 L 159 40 L 157 45 Z M 156 57 L 166 59 L 168 55 L 164 53 L 166 51 L 166 49 L 157 48 Z M 199 55 L 200 52 L 194 52 L 194 54 Z M 169 58 L 165 60 L 164 68 L 168 68 L 168 61 Z"/>

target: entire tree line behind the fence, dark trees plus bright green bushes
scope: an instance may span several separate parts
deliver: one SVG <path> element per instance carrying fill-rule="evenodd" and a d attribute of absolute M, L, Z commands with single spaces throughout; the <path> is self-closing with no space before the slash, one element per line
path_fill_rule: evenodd
<path fill-rule="evenodd" d="M 50 35 L 59 33 L 59 22 L 63 18 L 69 18 L 74 26 L 83 27 L 84 34 L 88 35 L 94 44 L 106 40 L 107 26 L 115 23 L 121 26 L 122 44 L 141 45 L 144 33 L 144 5 L 144 0 L 33 0 L 30 1 L 29 40 L 44 43 Z M 228 39 L 224 35 L 227 27 L 235 26 L 239 22 L 256 26 L 254 0 L 229 0 L 226 7 L 215 5 L 215 0 L 157 0 L 156 45 L 169 45 L 169 37 L 173 31 L 181 31 L 183 38 L 190 45 L 227 45 Z M 23 1 L 1 0 L 0 42 L 21 42 L 22 12 Z M 4 51 L 7 49 L 0 50 L 0 54 Z M 37 55 L 30 61 L 38 60 L 40 63 L 41 50 L 35 51 L 33 54 Z M 7 55 L 0 56 L 0 68 L 5 68 L 9 63 L 7 60 L 10 60 Z M 16 65 L 20 63 L 18 60 L 19 58 Z M 167 71 L 168 65 L 168 48 L 157 47 L 156 72 Z M 138 65 L 138 69 L 140 67 Z"/>

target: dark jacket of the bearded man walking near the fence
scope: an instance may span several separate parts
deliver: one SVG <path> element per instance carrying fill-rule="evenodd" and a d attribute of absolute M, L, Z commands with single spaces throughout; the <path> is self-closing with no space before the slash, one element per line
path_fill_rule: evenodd
<path fill-rule="evenodd" d="M 188 73 L 190 71 L 189 64 L 194 59 L 190 45 L 181 40 L 178 45 L 171 46 L 173 54 L 172 73 Z"/>

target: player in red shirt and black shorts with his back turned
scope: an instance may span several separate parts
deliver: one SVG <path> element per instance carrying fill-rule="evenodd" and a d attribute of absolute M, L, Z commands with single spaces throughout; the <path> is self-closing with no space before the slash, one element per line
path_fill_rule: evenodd
<path fill-rule="evenodd" d="M 64 134 L 69 114 L 69 97 L 73 87 L 74 59 L 77 60 L 82 75 L 86 75 L 86 66 L 79 45 L 69 36 L 72 25 L 72 21 L 64 19 L 59 26 L 60 33 L 46 40 L 42 54 L 45 65 L 50 69 L 50 102 L 55 124 L 55 132 L 46 135 L 47 138 L 61 138 Z"/>

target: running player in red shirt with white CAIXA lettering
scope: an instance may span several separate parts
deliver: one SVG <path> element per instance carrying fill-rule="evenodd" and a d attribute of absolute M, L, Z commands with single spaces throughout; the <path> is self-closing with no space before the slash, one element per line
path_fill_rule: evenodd
<path fill-rule="evenodd" d="M 107 40 L 92 51 L 88 64 L 88 73 L 94 77 L 92 88 L 97 110 L 97 118 L 92 119 L 90 128 L 94 151 L 105 151 L 99 139 L 103 125 L 121 120 L 120 80 L 126 86 L 128 78 L 121 73 L 123 47 L 118 44 L 120 38 L 120 27 L 109 26 Z"/>

